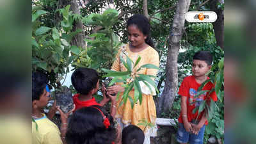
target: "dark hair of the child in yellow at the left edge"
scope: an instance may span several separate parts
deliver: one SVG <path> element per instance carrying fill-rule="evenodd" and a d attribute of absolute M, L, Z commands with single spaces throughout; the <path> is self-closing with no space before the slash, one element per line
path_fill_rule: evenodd
<path fill-rule="evenodd" d="M 48 79 L 44 73 L 32 72 L 32 101 L 40 99 L 47 83 Z"/>

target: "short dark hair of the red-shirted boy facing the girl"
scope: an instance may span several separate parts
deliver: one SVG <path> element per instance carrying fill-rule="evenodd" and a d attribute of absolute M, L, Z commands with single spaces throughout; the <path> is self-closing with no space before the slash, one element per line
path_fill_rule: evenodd
<path fill-rule="evenodd" d="M 72 85 L 82 95 L 87 95 L 96 88 L 98 80 L 98 72 L 92 68 L 77 68 L 71 76 Z"/>

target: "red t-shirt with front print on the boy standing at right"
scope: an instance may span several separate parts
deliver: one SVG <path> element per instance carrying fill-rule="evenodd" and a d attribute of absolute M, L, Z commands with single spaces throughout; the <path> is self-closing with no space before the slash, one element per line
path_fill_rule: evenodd
<path fill-rule="evenodd" d="M 209 77 L 207 77 L 207 79 L 209 79 Z M 200 87 L 200 84 L 198 84 L 196 82 L 195 77 L 188 76 L 188 77 L 184 78 L 184 80 L 182 81 L 180 88 L 179 88 L 178 94 L 181 96 L 184 96 L 184 97 L 188 97 L 188 99 L 187 99 L 188 122 L 191 122 L 192 120 L 196 119 L 196 116 L 198 115 L 198 111 L 196 111 L 196 113 L 193 113 L 193 109 L 196 106 L 200 105 L 200 102 L 196 102 L 194 104 L 191 104 L 191 103 L 195 102 L 195 100 L 204 100 L 206 95 L 209 93 L 209 92 L 203 93 L 202 95 L 199 95 L 195 99 L 194 96 L 196 95 L 196 92 L 199 87 Z M 214 84 L 212 84 L 211 81 L 209 81 L 207 84 L 205 84 L 205 86 L 204 86 L 204 88 L 202 88 L 202 90 L 211 90 L 212 88 L 214 88 Z M 210 94 L 210 97 L 214 101 L 217 100 L 217 95 L 216 95 L 215 91 Z M 198 120 L 201 120 L 203 112 L 204 111 L 202 111 L 200 113 L 200 115 L 198 116 Z M 183 123 L 181 111 L 180 111 L 180 116 L 179 116 L 179 122 Z M 208 124 L 208 121 L 206 120 L 205 125 L 207 125 L 207 124 Z"/>

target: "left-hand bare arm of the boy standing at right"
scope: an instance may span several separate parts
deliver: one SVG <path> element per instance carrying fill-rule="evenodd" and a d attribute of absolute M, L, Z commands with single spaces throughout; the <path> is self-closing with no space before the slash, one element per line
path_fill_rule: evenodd
<path fill-rule="evenodd" d="M 188 122 L 187 99 L 188 99 L 188 97 L 181 96 L 181 114 L 182 114 L 182 120 L 183 120 L 184 127 L 185 127 L 186 131 L 189 132 L 192 130 L 192 126 Z"/>

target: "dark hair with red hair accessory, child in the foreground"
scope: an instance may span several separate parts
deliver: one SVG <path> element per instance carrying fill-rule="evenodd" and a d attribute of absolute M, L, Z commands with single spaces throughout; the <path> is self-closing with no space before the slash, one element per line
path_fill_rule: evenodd
<path fill-rule="evenodd" d="M 106 129 L 102 113 L 108 117 L 110 125 Z M 112 144 L 116 140 L 113 117 L 100 106 L 77 109 L 71 116 L 66 133 L 67 144 Z"/>

